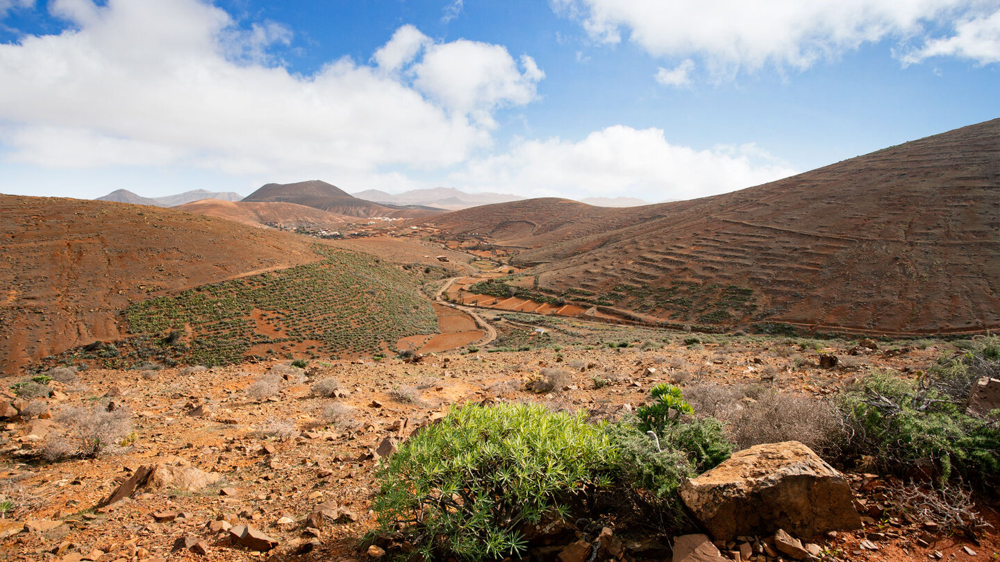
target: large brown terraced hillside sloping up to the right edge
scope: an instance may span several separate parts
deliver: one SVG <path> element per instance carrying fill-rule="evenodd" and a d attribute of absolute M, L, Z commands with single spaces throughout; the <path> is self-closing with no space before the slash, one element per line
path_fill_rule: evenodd
<path fill-rule="evenodd" d="M 435 220 L 530 246 L 517 259 L 540 265 L 521 283 L 679 322 L 1000 327 L 1000 119 L 715 197 L 577 207 L 517 236 L 482 226 L 511 205 Z"/>

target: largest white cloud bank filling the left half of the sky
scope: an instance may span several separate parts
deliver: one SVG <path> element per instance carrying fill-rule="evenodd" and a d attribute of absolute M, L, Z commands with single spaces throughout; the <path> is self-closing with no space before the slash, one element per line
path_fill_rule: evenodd
<path fill-rule="evenodd" d="M 9 162 L 330 178 L 439 169 L 489 146 L 491 112 L 531 101 L 544 76 L 527 57 L 519 70 L 504 47 L 436 44 L 412 26 L 374 65 L 343 58 L 302 76 L 268 56 L 290 29 L 241 29 L 201 0 L 55 0 L 49 9 L 69 28 L 0 45 Z"/>

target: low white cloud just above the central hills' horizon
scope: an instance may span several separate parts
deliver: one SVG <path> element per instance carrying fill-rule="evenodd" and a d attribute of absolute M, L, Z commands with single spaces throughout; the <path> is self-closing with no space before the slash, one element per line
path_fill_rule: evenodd
<path fill-rule="evenodd" d="M 449 180 L 463 189 L 530 197 L 663 201 L 715 195 L 794 173 L 752 144 L 698 151 L 670 144 L 660 129 L 616 125 L 579 142 L 521 140 L 506 154 L 473 160 Z"/>

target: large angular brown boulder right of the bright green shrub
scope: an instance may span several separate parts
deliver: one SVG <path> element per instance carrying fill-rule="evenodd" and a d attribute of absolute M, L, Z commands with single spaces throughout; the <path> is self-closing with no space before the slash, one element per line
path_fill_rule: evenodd
<path fill-rule="evenodd" d="M 740 451 L 686 480 L 679 491 L 716 540 L 769 535 L 778 529 L 812 537 L 861 528 L 847 480 L 798 441 Z"/>

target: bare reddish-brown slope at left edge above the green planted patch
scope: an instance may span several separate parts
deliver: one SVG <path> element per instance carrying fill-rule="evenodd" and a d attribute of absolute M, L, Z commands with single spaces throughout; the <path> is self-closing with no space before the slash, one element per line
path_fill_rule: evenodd
<path fill-rule="evenodd" d="M 119 338 L 130 303 L 323 259 L 304 237 L 124 203 L 0 195 L 0 224 L 0 375 Z"/>

